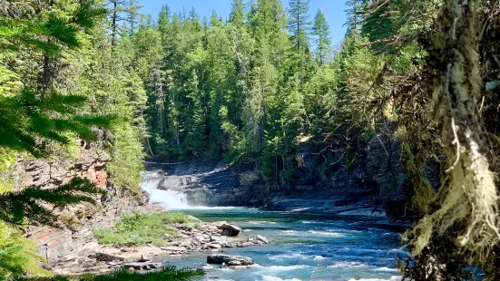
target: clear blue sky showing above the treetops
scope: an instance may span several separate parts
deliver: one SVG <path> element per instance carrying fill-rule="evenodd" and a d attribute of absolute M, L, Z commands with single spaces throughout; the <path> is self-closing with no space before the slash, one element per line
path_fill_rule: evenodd
<path fill-rule="evenodd" d="M 210 17 L 212 11 L 216 11 L 217 15 L 226 18 L 230 15 L 231 0 L 139 0 L 139 4 L 143 6 L 142 13 L 152 15 L 153 19 L 160 12 L 162 5 L 169 5 L 172 12 L 178 13 L 185 7 L 189 12 L 191 7 L 196 9 L 196 13 Z M 288 6 L 289 0 L 281 0 L 283 5 Z M 321 9 L 328 20 L 331 30 L 332 42 L 338 44 L 346 34 L 346 28 L 342 25 L 346 23 L 346 0 L 310 0 L 310 18 L 311 20 Z"/>

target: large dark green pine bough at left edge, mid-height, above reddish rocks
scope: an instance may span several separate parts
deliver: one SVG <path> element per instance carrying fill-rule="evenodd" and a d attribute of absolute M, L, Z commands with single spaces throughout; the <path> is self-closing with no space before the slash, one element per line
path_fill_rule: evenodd
<path fill-rule="evenodd" d="M 0 146 L 46 157 L 50 151 L 44 151 L 44 140 L 67 144 L 70 140 L 66 132 L 94 139 L 90 126 L 108 127 L 111 120 L 110 116 L 76 114 L 85 102 L 83 96 L 57 93 L 41 100 L 27 89 L 12 97 L 0 97 Z"/>

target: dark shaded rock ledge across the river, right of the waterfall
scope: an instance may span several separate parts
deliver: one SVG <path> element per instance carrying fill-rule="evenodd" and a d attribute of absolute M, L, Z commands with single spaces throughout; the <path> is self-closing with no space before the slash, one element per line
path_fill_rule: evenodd
<path fill-rule="evenodd" d="M 309 143 L 296 152 L 297 175 L 280 179 L 279 189 L 268 189 L 260 174 L 260 160 L 234 166 L 223 160 L 199 159 L 161 169 L 159 189 L 180 191 L 191 206 L 259 206 L 274 210 L 366 215 L 400 220 L 412 219 L 407 202 L 413 194 L 400 142 L 387 123 L 362 149 L 318 153 Z M 354 157 L 354 159 L 352 158 Z M 437 167 L 436 167 L 437 166 Z M 429 162 L 426 176 L 439 186 L 439 167 Z"/>

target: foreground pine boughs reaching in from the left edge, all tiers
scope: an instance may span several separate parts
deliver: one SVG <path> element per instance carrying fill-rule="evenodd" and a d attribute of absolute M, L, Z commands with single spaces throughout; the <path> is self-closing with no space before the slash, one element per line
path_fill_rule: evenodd
<path fill-rule="evenodd" d="M 15 9 L 7 6 L 7 10 Z M 93 1 L 79 1 L 69 16 L 61 17 L 58 13 L 40 10 L 41 14 L 34 21 L 31 15 L 11 17 L 10 13 L 0 14 L 3 47 L 0 56 L 8 53 L 15 56 L 19 50 L 42 53 L 45 56 L 59 57 L 66 48 L 77 49 L 83 45 L 80 41 L 82 32 L 92 29 L 94 20 L 103 15 L 103 10 L 93 5 Z M 57 11 L 59 12 L 59 11 Z M 27 21 L 25 17 L 30 17 Z M 9 46 L 15 46 L 9 47 Z M 0 76 L 8 74 L 11 79 L 21 79 L 17 71 L 0 67 Z M 82 112 L 86 98 L 82 95 L 63 94 L 49 90 L 29 89 L 31 82 L 14 83 L 0 81 L 0 150 L 9 158 L 2 163 L 9 163 L 14 156 L 13 151 L 31 153 L 34 157 L 48 156 L 49 143 L 67 144 L 70 135 L 92 140 L 93 126 L 109 128 L 110 116 L 96 116 Z M 22 85 L 25 84 L 25 87 Z M 13 87 L 15 85 L 15 87 Z M 44 88 L 44 87 L 43 87 Z M 70 134 L 71 133 L 71 134 Z M 5 165 L 4 165 L 5 166 Z M 5 166 L 5 167 L 8 167 Z M 4 170 L 0 167 L 0 171 Z M 55 226 L 52 208 L 80 202 L 94 202 L 94 195 L 103 193 L 87 179 L 74 178 L 69 183 L 55 189 L 6 189 L 2 183 L 0 189 L 0 220 L 2 221 L 2 237 L 0 237 L 0 272 L 3 276 L 19 276 L 25 271 L 32 271 L 38 256 L 34 250 L 25 247 L 25 241 L 16 238 L 12 233 L 4 236 L 8 226 L 21 226 L 26 223 L 41 223 Z M 8 226 L 6 226 L 8 225 Z M 11 240 L 9 240 L 11 239 Z M 12 239 L 16 239 L 12 241 Z M 11 242 L 9 242 L 11 241 Z M 9 255 L 22 255 L 16 260 Z M 25 257 L 23 257 L 25 256 Z M 28 257 L 31 256 L 31 257 Z M 6 271 L 6 273 L 5 273 Z"/>

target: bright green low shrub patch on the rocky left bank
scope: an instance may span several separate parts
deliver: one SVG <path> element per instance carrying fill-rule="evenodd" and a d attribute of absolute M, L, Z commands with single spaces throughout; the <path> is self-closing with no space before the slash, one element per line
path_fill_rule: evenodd
<path fill-rule="evenodd" d="M 114 224 L 114 229 L 95 228 L 93 235 L 101 244 L 163 246 L 167 237 L 176 237 L 177 228 L 169 225 L 191 222 L 179 213 L 128 214 Z"/>

